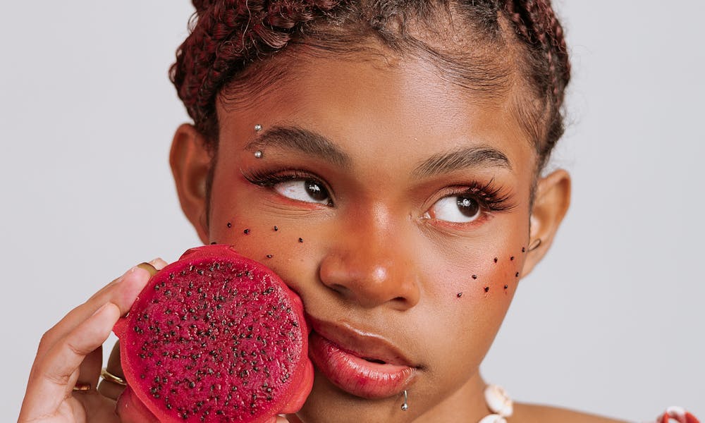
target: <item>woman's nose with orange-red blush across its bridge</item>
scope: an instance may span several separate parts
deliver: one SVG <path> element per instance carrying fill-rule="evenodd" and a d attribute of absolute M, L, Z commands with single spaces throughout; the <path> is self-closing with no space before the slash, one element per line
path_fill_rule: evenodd
<path fill-rule="evenodd" d="M 363 308 L 414 307 L 420 298 L 414 243 L 400 237 L 398 230 L 392 235 L 391 228 L 379 221 L 349 229 L 338 233 L 321 262 L 324 285 Z"/>

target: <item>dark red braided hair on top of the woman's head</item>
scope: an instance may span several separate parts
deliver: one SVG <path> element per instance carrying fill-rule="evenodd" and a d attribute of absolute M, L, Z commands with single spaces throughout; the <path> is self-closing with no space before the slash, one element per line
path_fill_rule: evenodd
<path fill-rule="evenodd" d="M 550 0 L 193 0 L 193 4 L 190 35 L 176 52 L 170 76 L 208 142 L 217 144 L 216 95 L 252 63 L 293 42 L 320 38 L 326 27 L 338 35 L 346 25 L 358 33 L 364 25 L 381 38 L 389 37 L 394 28 L 403 33 L 385 23 L 398 16 L 424 19 L 434 7 L 465 13 L 470 23 L 490 34 L 502 31 L 501 20 L 513 27 L 526 56 L 525 76 L 544 105 L 543 135 L 535 146 L 539 168 L 563 134 L 560 106 L 570 80 L 570 62 Z"/>

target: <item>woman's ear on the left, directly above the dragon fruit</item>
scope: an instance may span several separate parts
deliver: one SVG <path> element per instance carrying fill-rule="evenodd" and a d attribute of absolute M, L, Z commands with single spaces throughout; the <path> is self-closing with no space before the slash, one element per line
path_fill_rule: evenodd
<path fill-rule="evenodd" d="M 176 191 L 186 218 L 204 244 L 208 243 L 208 204 L 206 182 L 212 164 L 212 154 L 205 138 L 193 125 L 180 125 L 171 142 L 169 164 Z"/>

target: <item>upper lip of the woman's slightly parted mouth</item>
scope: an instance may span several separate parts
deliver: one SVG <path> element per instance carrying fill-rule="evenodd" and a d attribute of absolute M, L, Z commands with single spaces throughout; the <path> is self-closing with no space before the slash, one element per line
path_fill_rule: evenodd
<path fill-rule="evenodd" d="M 347 321 L 331 322 L 307 315 L 313 331 L 341 350 L 366 360 L 381 360 L 386 364 L 418 367 L 394 343 L 379 333 L 353 326 Z"/>

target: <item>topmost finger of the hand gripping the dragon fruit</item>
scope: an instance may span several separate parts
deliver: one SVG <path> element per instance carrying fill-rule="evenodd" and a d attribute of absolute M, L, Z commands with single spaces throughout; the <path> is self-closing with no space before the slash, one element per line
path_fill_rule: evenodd
<path fill-rule="evenodd" d="M 123 276 L 109 283 L 102 290 L 99 290 L 89 300 L 79 305 L 66 314 L 59 323 L 54 325 L 42 336 L 37 350 L 37 359 L 53 348 L 54 343 L 66 336 L 66 333 L 73 331 L 82 321 L 89 318 L 99 307 L 106 302 L 112 302 L 120 309 L 121 315 L 128 312 L 137 294 L 142 291 L 149 281 L 149 272 L 140 267 L 134 266 Z"/>

